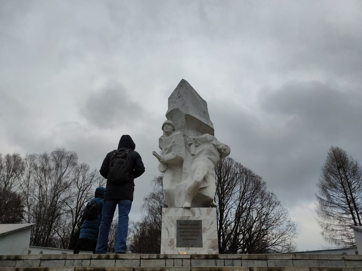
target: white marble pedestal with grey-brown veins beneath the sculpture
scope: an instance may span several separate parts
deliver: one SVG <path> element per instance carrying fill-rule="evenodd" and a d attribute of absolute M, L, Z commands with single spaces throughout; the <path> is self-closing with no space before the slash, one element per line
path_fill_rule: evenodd
<path fill-rule="evenodd" d="M 219 254 L 216 208 L 163 208 L 161 254 Z"/>

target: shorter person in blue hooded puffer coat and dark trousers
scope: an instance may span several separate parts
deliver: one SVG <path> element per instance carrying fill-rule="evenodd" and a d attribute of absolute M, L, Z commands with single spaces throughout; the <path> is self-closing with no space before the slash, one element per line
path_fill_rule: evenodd
<path fill-rule="evenodd" d="M 79 241 L 74 247 L 73 254 L 78 254 L 80 249 L 85 251 L 93 251 L 93 253 L 96 253 L 99 225 L 101 224 L 102 220 L 102 207 L 105 190 L 106 189 L 104 187 L 97 187 L 96 192 L 94 193 L 94 199 L 91 199 L 87 203 L 87 205 L 89 205 L 92 203 L 92 201 L 95 201 L 99 213 L 96 219 L 90 220 L 85 218 L 85 212 L 83 212 Z"/>

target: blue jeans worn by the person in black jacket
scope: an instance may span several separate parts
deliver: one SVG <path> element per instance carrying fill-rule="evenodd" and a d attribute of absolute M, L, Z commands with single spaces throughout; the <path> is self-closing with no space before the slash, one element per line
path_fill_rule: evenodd
<path fill-rule="evenodd" d="M 99 226 L 97 254 L 105 254 L 108 250 L 109 229 L 113 221 L 115 207 L 118 204 L 118 228 L 114 244 L 115 252 L 127 251 L 127 233 L 128 233 L 128 214 L 131 211 L 132 201 L 129 199 L 112 200 L 107 199 L 103 202 L 102 220 Z"/>

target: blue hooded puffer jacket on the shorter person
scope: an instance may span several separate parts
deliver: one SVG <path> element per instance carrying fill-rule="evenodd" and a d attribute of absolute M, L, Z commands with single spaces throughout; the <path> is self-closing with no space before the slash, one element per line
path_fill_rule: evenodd
<path fill-rule="evenodd" d="M 94 193 L 94 201 L 97 203 L 99 214 L 96 219 L 93 220 L 84 219 L 83 224 L 80 228 L 79 238 L 97 241 L 99 225 L 101 224 L 101 219 L 102 219 L 103 196 L 105 190 L 106 189 L 104 187 L 98 187 L 96 189 L 96 192 Z M 91 199 L 87 203 L 87 205 L 90 204 L 92 201 L 93 199 Z M 83 218 L 84 218 L 84 213 L 83 213 Z"/>

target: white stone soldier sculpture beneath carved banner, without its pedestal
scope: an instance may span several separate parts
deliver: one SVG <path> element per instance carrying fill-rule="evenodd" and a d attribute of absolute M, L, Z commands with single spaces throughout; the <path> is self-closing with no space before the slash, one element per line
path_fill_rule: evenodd
<path fill-rule="evenodd" d="M 162 154 L 153 155 L 164 172 L 167 206 L 214 206 L 214 169 L 220 158 L 230 154 L 230 147 L 214 137 L 207 103 L 182 79 L 168 98 L 166 117 L 159 139 Z"/>

